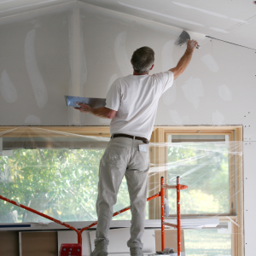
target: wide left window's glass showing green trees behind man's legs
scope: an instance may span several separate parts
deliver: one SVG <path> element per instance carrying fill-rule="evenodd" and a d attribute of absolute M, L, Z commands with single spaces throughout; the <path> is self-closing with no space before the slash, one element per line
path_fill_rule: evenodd
<path fill-rule="evenodd" d="M 16 149 L 0 157 L 0 195 L 61 219 L 96 220 L 98 166 L 103 149 Z M 130 205 L 125 179 L 114 211 Z M 44 219 L 0 201 L 2 223 Z M 113 219 L 130 219 L 127 211 Z M 48 221 L 48 220 L 47 220 Z"/>

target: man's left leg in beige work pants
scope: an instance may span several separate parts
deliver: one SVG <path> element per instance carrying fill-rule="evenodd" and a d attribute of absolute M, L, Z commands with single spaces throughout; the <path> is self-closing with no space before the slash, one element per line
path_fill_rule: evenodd
<path fill-rule="evenodd" d="M 119 186 L 125 175 L 129 152 L 129 148 L 109 143 L 102 156 L 96 201 L 98 216 L 96 245 L 101 243 L 108 245 L 108 230 L 113 216 L 113 205 L 117 201 Z"/>

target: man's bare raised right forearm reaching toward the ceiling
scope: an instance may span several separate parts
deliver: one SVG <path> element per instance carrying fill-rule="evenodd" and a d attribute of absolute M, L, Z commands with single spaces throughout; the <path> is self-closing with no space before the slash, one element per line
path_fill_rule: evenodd
<path fill-rule="evenodd" d="M 197 44 L 195 40 L 188 40 L 187 49 L 182 58 L 177 62 L 177 66 L 169 69 L 172 71 L 174 79 L 177 79 L 177 77 L 184 72 L 186 67 L 188 67 Z"/>

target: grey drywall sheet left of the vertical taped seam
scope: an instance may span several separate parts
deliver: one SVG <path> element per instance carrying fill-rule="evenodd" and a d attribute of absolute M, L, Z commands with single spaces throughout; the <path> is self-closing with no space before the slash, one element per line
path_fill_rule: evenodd
<path fill-rule="evenodd" d="M 71 15 L 65 4 L 0 21 L 1 125 L 68 124 Z"/>

